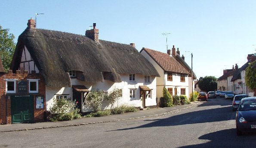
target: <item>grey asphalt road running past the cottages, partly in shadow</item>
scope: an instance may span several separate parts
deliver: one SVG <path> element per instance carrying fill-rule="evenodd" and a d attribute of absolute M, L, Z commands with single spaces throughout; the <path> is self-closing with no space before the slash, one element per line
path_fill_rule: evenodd
<path fill-rule="evenodd" d="M 0 133 L 0 147 L 256 147 L 256 134 L 237 136 L 231 101 L 209 99 L 168 115 Z"/>

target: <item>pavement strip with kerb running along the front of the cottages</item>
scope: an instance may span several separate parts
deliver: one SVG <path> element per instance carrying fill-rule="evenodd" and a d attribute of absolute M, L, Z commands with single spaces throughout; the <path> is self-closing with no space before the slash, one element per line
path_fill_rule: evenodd
<path fill-rule="evenodd" d="M 140 110 L 136 112 L 127 112 L 123 114 L 109 115 L 109 116 L 103 116 L 103 117 L 89 117 L 89 118 L 82 117 L 79 119 L 74 119 L 69 121 L 4 124 L 4 125 L 0 125 L 0 133 L 21 131 L 21 130 L 37 130 L 37 129 L 47 129 L 47 128 L 81 126 L 81 125 L 97 124 L 97 123 L 103 123 L 103 122 L 132 120 L 136 118 L 147 118 L 147 117 L 152 117 L 157 115 L 164 115 L 170 112 L 176 112 L 178 110 L 184 110 L 198 104 L 201 104 L 201 103 L 191 102 L 191 104 L 178 105 L 175 107 L 154 108 L 149 110 Z"/>

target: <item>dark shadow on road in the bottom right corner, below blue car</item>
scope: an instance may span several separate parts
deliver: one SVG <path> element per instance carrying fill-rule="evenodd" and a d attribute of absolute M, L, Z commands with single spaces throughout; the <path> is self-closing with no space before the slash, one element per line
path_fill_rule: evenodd
<path fill-rule="evenodd" d="M 198 139 L 210 140 L 210 142 L 197 145 L 188 145 L 180 148 L 255 148 L 256 146 L 255 133 L 237 136 L 235 128 L 207 133 L 200 136 Z"/>

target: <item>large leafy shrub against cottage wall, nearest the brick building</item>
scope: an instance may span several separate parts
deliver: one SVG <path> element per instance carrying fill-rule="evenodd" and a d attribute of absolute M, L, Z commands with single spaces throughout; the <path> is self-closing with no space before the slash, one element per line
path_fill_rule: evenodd
<path fill-rule="evenodd" d="M 70 99 L 60 98 L 58 101 L 53 100 L 53 106 L 50 108 L 49 121 L 67 121 L 80 118 L 79 109 L 75 108 L 76 104 Z"/>

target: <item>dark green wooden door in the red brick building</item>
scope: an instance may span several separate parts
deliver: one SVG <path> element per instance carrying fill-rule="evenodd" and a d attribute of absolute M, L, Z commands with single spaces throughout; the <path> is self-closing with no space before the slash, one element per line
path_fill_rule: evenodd
<path fill-rule="evenodd" d="M 12 123 L 26 123 L 33 121 L 33 104 L 32 96 L 12 96 Z"/>

